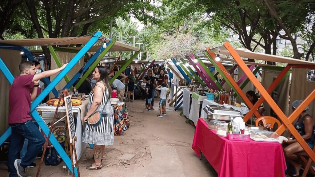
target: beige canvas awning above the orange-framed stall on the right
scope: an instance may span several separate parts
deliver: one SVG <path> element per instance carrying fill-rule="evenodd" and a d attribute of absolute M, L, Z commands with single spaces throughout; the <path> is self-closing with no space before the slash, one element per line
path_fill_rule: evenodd
<path fill-rule="evenodd" d="M 249 58 L 249 59 L 254 59 L 254 60 L 262 60 L 262 61 L 270 61 L 270 62 L 277 62 L 277 63 L 287 63 L 287 64 L 315 65 L 315 63 L 313 63 L 311 61 L 304 61 L 304 60 L 298 60 L 298 59 L 293 59 L 293 58 L 289 58 L 289 57 L 282 57 L 282 56 L 277 56 L 277 55 L 251 52 L 248 49 L 235 49 L 235 50 L 238 53 L 238 55 L 242 58 Z M 212 49 L 210 49 L 210 51 L 214 52 L 214 53 L 218 53 L 220 51 L 220 54 L 231 55 L 226 50 L 226 48 L 224 46 L 212 48 Z M 234 59 L 229 59 L 229 60 L 235 62 Z M 253 64 L 257 65 L 256 63 L 253 63 Z M 268 66 L 270 66 L 270 65 L 268 65 Z"/>

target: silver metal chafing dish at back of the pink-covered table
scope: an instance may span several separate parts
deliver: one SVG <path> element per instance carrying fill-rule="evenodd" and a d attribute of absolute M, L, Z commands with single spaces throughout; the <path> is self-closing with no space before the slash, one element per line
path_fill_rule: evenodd
<path fill-rule="evenodd" d="M 208 120 L 228 121 L 235 117 L 243 117 L 240 111 L 222 106 L 207 105 L 203 110 L 208 113 Z"/>

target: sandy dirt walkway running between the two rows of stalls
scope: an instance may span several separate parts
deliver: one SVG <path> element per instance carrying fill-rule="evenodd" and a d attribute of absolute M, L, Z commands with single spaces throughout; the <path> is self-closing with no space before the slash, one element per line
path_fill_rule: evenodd
<path fill-rule="evenodd" d="M 158 105 L 157 100 L 155 101 Z M 195 128 L 185 123 L 186 117 L 180 110 L 167 105 L 167 116 L 157 117 L 154 111 L 144 110 L 144 101 L 127 103 L 130 128 L 115 137 L 113 146 L 106 146 L 103 167 L 100 170 L 87 170 L 92 163 L 93 150 L 87 148 L 79 160 L 81 176 L 126 176 L 126 177 L 212 177 L 215 170 L 203 157 L 200 161 L 192 150 Z M 135 154 L 130 161 L 120 160 L 124 153 Z M 39 159 L 35 161 L 39 163 Z M 58 166 L 42 167 L 40 176 L 68 176 L 68 170 Z M 30 168 L 28 174 L 36 176 L 37 168 Z M 0 164 L 0 176 L 9 176 L 7 167 Z"/>

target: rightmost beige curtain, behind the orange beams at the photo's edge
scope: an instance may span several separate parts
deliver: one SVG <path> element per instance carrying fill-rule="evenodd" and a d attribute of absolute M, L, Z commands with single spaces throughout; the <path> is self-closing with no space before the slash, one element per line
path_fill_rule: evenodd
<path fill-rule="evenodd" d="M 306 81 L 306 69 L 293 68 L 291 78 L 290 113 L 292 112 L 292 102 L 295 100 L 305 100 L 305 98 L 315 89 L 314 82 Z M 315 120 L 315 101 L 313 100 L 307 111 Z"/>

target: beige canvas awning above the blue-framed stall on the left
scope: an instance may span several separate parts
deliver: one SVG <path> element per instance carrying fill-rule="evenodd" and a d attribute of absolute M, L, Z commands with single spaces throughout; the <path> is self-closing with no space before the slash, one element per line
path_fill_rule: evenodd
<path fill-rule="evenodd" d="M 32 46 L 54 46 L 54 45 L 75 45 L 75 44 L 85 44 L 91 37 L 57 37 L 57 38 L 43 38 L 43 39 L 18 39 L 18 40 L 0 40 L 0 44 L 9 44 L 20 47 L 32 47 Z M 97 41 L 96 46 L 92 46 L 89 52 L 96 52 L 101 45 L 103 45 L 104 37 L 100 37 Z M 107 40 L 108 42 L 108 40 Z M 80 50 L 82 47 L 62 47 L 65 49 L 76 49 Z M 127 45 L 120 42 L 115 42 L 110 51 L 140 51 L 139 48 Z"/>

